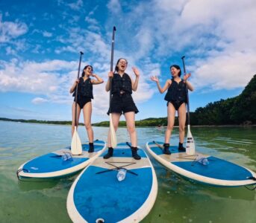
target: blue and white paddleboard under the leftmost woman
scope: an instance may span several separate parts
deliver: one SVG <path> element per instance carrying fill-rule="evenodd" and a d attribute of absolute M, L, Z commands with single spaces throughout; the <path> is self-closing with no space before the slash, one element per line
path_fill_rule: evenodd
<path fill-rule="evenodd" d="M 106 143 L 102 140 L 94 141 L 94 152 L 88 152 L 89 143 L 82 145 L 82 155 L 71 155 L 70 147 L 41 155 L 31 161 L 22 164 L 16 172 L 21 180 L 36 179 L 45 180 L 48 178 L 60 178 L 72 175 L 75 172 L 87 167 L 106 148 Z"/>

